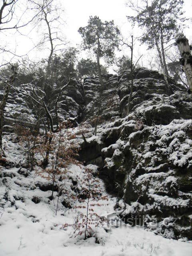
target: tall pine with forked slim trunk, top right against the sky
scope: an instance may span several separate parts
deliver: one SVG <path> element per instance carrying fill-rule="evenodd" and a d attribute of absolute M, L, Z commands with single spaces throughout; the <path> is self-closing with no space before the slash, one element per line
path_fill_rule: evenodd
<path fill-rule="evenodd" d="M 156 47 L 165 80 L 168 68 L 166 64 L 165 44 L 174 38 L 176 31 L 180 30 L 186 18 L 182 17 L 183 0 L 143 0 L 140 6 L 135 6 L 132 0 L 129 6 L 136 11 L 136 16 L 128 16 L 133 24 L 137 22 L 142 28 L 140 41 L 148 44 L 148 48 Z"/>

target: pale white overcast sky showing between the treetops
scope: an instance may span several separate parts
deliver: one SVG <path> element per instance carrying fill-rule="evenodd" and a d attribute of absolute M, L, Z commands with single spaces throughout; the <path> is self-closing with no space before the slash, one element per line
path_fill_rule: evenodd
<path fill-rule="evenodd" d="M 58 0 L 55 0 L 57 2 Z M 137 2 L 137 0 L 135 0 Z M 80 44 L 81 36 L 78 33 L 78 28 L 80 26 L 86 26 L 89 16 L 99 16 L 101 20 L 114 20 L 114 23 L 120 28 L 124 38 L 130 38 L 130 35 L 139 36 L 139 30 L 136 28 L 132 31 L 130 24 L 127 21 L 126 15 L 132 15 L 129 13 L 129 8 L 125 6 L 126 0 L 61 0 L 62 7 L 65 9 L 62 19 L 66 20 L 66 24 L 62 26 L 62 33 L 66 36 L 67 40 L 71 42 L 72 45 Z M 186 16 L 191 18 L 192 13 L 192 0 L 184 0 L 184 10 L 186 11 Z M 192 25 L 192 21 L 189 22 Z M 26 34 L 26 28 L 22 31 Z M 191 28 L 184 31 L 186 36 L 191 39 Z M 30 40 L 26 36 L 8 35 L 3 40 L 6 42 L 11 42 L 9 48 L 15 48 L 18 55 L 28 52 L 34 44 L 39 40 L 40 33 L 33 30 L 29 36 L 33 38 Z M 1 36 L 2 37 L 2 36 Z M 1 42 L 2 42 L 2 38 Z M 148 52 L 147 47 L 140 46 L 139 42 L 136 43 L 134 57 L 137 59 L 141 54 L 144 54 L 142 60 L 148 58 L 150 52 Z M 46 57 L 46 51 L 41 52 L 31 51 L 30 58 L 42 58 Z M 125 53 L 130 54 L 129 49 L 124 49 L 118 55 Z M 146 63 L 142 63 L 146 64 Z"/>

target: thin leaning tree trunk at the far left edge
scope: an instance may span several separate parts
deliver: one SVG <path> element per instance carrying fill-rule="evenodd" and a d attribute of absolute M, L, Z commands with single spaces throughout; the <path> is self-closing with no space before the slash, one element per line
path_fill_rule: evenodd
<path fill-rule="evenodd" d="M 12 66 L 12 76 L 10 76 L 7 81 L 7 85 L 3 94 L 2 102 L 0 103 L 0 157 L 4 155 L 2 148 L 2 131 L 3 131 L 3 121 L 4 121 L 4 110 L 7 103 L 8 95 L 10 92 L 10 87 L 16 78 L 16 67 Z"/>

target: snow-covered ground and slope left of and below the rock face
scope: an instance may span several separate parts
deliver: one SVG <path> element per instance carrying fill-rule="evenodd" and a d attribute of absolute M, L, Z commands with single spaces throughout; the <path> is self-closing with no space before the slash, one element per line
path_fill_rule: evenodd
<path fill-rule="evenodd" d="M 12 162 L 22 159 L 22 151 L 16 144 L 8 141 L 6 150 Z M 96 166 L 89 166 L 93 172 Z M 56 215 L 58 197 L 50 201 L 50 190 L 40 190 L 38 184 L 47 181 L 35 172 L 25 177 L 20 168 L 6 169 L 0 167 L 0 256 L 191 256 L 192 243 L 163 238 L 142 227 L 130 227 L 122 224 L 119 227 L 96 228 L 96 237 L 87 240 L 73 235 L 71 226 L 62 228 L 63 224 L 74 223 L 76 208 L 65 208 L 62 200 L 73 205 L 72 180 L 66 180 L 68 198 L 61 196 Z M 83 178 L 84 166 L 71 166 L 71 176 Z M 99 180 L 102 195 L 106 195 L 104 183 Z M 34 203 L 36 196 L 40 202 Z M 71 198 L 70 198 L 71 196 Z M 94 206 L 97 214 L 107 216 L 114 212 L 116 198 L 108 195 L 108 201 Z M 83 205 L 82 202 L 75 202 Z M 84 209 L 79 209 L 84 211 Z M 106 225 L 106 224 L 105 224 Z"/>

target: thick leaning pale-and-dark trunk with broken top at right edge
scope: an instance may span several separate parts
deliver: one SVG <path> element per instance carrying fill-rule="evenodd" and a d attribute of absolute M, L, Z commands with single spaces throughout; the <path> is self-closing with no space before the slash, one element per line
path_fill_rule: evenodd
<path fill-rule="evenodd" d="M 176 34 L 175 40 L 181 54 L 180 62 L 192 93 L 192 55 L 189 41 L 182 33 Z"/>

